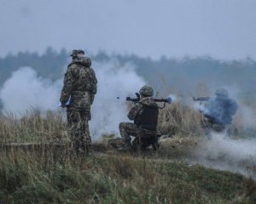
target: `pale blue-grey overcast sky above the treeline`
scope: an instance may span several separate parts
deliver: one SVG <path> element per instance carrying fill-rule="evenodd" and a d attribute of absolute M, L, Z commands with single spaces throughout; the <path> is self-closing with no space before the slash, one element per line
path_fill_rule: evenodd
<path fill-rule="evenodd" d="M 0 57 L 86 48 L 256 59 L 255 0 L 0 0 Z"/>

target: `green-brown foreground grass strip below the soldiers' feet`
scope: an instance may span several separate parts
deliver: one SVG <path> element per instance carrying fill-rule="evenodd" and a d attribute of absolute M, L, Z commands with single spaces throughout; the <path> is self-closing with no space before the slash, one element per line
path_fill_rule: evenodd
<path fill-rule="evenodd" d="M 0 203 L 255 203 L 241 174 L 130 154 L 1 152 Z"/>

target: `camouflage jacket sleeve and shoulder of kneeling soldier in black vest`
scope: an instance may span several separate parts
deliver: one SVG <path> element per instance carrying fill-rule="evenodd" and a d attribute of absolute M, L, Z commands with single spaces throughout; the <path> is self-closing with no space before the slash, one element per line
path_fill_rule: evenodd
<path fill-rule="evenodd" d="M 137 116 L 139 116 L 143 112 L 143 105 L 148 105 L 148 106 L 155 106 L 156 103 L 154 102 L 153 97 L 144 97 L 140 99 L 138 103 L 135 103 L 132 107 L 131 110 L 128 113 L 128 118 L 130 120 L 135 120 Z M 156 105 L 157 106 L 157 105 Z"/>

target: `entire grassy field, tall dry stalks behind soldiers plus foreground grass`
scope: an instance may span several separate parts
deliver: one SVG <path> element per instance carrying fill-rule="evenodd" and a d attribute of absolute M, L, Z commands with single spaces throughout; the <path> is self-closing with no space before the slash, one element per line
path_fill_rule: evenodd
<path fill-rule="evenodd" d="M 75 156 L 61 114 L 2 116 L 0 203 L 256 203 L 253 178 L 189 162 L 202 140 L 198 112 L 176 103 L 159 128 L 172 138 L 158 153 L 118 152 L 102 140 Z"/>

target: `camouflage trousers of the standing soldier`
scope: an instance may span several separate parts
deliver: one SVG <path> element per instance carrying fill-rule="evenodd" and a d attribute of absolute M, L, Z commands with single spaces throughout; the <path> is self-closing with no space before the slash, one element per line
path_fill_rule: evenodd
<path fill-rule="evenodd" d="M 72 142 L 72 149 L 77 153 L 90 150 L 91 139 L 85 111 L 67 110 L 67 132 Z"/>

